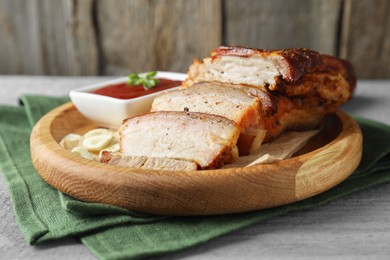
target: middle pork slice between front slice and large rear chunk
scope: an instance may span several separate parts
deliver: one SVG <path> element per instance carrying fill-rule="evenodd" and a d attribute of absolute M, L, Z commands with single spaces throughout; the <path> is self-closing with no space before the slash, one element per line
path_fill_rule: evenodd
<path fill-rule="evenodd" d="M 151 111 L 191 111 L 229 118 L 240 127 L 239 154 L 247 155 L 261 146 L 265 136 L 258 127 L 261 107 L 250 87 L 203 82 L 156 97 Z"/>

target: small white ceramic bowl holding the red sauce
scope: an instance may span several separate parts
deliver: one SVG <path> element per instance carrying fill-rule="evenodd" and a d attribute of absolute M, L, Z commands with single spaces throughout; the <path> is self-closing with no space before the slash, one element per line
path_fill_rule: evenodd
<path fill-rule="evenodd" d="M 183 81 L 186 79 L 187 74 L 159 71 L 157 72 L 156 77 Z M 123 119 L 149 112 L 154 97 L 164 91 L 176 89 L 163 90 L 132 99 L 118 99 L 91 93 L 91 91 L 98 88 L 123 83 L 127 80 L 128 77 L 123 77 L 85 86 L 72 90 L 69 93 L 69 96 L 77 110 L 86 118 L 99 126 L 118 129 L 121 126 Z"/>

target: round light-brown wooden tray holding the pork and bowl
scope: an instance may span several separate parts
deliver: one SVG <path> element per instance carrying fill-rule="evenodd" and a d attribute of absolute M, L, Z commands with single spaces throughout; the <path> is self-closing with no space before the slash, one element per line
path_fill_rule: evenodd
<path fill-rule="evenodd" d="M 45 115 L 31 134 L 31 158 L 54 188 L 88 202 L 163 215 L 213 215 L 293 203 L 346 179 L 362 155 L 358 124 L 342 111 L 293 158 L 246 168 L 197 172 L 106 165 L 64 150 L 68 133 L 96 128 L 72 103 Z"/>

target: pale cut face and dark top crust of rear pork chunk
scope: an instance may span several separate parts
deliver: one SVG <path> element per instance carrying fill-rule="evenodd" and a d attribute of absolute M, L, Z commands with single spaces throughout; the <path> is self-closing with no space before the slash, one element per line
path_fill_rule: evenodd
<path fill-rule="evenodd" d="M 194 61 L 184 85 L 220 81 L 274 89 L 281 80 L 296 82 L 320 61 L 318 52 L 303 48 L 261 50 L 219 47 L 202 62 Z"/>

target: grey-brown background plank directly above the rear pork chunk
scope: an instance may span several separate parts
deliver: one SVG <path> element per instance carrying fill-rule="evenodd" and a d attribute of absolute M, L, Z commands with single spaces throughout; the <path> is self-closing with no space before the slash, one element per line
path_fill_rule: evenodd
<path fill-rule="evenodd" d="M 341 0 L 225 0 L 224 44 L 337 53 Z"/>

